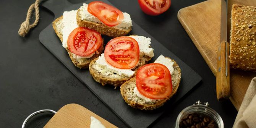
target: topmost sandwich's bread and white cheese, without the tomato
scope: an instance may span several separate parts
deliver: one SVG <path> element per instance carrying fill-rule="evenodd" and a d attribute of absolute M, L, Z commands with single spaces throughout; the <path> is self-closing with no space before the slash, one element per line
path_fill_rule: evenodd
<path fill-rule="evenodd" d="M 78 26 L 94 29 L 100 34 L 110 37 L 125 36 L 131 31 L 132 21 L 128 13 L 123 13 L 124 19 L 122 23 L 110 27 L 102 23 L 97 17 L 91 15 L 91 13 L 87 11 L 87 6 L 88 5 L 84 3 L 77 11 L 76 20 Z"/>

